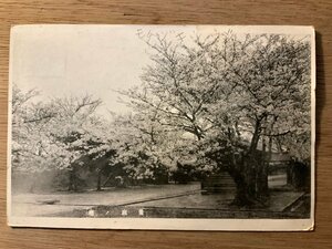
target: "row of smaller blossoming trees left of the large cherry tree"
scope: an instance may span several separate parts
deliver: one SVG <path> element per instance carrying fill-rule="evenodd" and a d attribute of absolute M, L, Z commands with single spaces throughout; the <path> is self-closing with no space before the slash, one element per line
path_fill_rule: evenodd
<path fill-rule="evenodd" d="M 35 90 L 12 90 L 12 170 L 38 175 L 56 172 L 60 185 L 79 190 L 80 173 L 96 175 L 96 189 L 110 179 L 155 180 L 165 165 L 148 153 L 143 121 L 137 115 L 96 114 L 102 101 L 92 95 L 39 102 Z M 102 177 L 106 176 L 104 183 Z M 63 180 L 63 177 L 65 180 Z M 50 183 L 51 184 L 51 183 Z"/>

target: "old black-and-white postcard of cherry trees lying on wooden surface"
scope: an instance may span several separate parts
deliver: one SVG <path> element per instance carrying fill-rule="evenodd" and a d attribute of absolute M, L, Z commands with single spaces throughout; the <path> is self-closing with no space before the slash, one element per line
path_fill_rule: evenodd
<path fill-rule="evenodd" d="M 312 230 L 312 27 L 11 29 L 13 227 Z"/>

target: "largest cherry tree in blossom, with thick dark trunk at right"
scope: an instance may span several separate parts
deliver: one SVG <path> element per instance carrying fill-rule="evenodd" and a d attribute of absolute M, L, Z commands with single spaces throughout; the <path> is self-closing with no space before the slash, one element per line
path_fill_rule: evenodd
<path fill-rule="evenodd" d="M 152 63 L 142 86 L 123 93 L 128 104 L 147 118 L 156 116 L 165 134 L 190 141 L 195 153 L 187 155 L 195 155 L 197 165 L 227 170 L 237 184 L 235 204 L 261 198 L 267 194 L 266 141 L 271 151 L 277 137 L 310 127 L 307 39 L 232 32 L 191 39 L 139 35 L 153 51 Z"/>

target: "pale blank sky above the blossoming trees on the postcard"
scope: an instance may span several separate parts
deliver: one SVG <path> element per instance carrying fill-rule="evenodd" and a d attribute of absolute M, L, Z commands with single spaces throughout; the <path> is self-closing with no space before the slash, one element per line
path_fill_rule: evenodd
<path fill-rule="evenodd" d="M 112 90 L 139 84 L 142 69 L 149 63 L 147 45 L 138 39 L 138 29 L 193 35 L 230 28 L 19 25 L 11 33 L 11 82 L 23 90 L 38 89 L 42 100 L 90 93 L 103 101 L 98 110 L 101 114 L 108 115 L 107 110 L 126 112 L 127 107 L 117 102 L 118 94 Z M 263 29 L 250 31 L 261 32 Z M 232 30 L 248 32 L 246 27 L 232 27 Z"/>

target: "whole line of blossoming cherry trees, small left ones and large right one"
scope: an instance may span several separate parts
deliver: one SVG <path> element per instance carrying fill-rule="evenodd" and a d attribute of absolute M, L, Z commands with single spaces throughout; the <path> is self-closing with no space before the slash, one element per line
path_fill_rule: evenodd
<path fill-rule="evenodd" d="M 241 206 L 267 196 L 272 151 L 310 163 L 305 38 L 138 37 L 151 63 L 138 86 L 120 92 L 132 113 L 112 122 L 95 113 L 101 100 L 90 95 L 35 104 L 29 102 L 35 91 L 14 86 L 13 169 L 55 167 L 69 172 L 70 179 L 84 165 L 98 176 L 113 167 L 132 179 L 156 178 L 184 165 L 196 173 L 226 170 L 237 184 L 235 204 Z M 100 189 L 101 177 L 97 181 Z"/>

